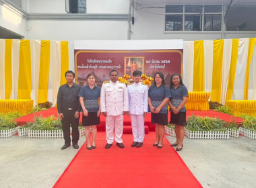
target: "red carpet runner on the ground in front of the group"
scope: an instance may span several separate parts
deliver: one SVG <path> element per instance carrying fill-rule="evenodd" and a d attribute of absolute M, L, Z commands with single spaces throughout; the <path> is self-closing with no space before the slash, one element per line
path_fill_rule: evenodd
<path fill-rule="evenodd" d="M 84 144 L 54 187 L 202 187 L 166 138 L 158 149 L 150 132 L 141 148 L 131 148 L 133 137 L 124 134 L 124 149 L 114 142 L 106 150 L 105 137 L 98 132 L 95 150 Z"/>

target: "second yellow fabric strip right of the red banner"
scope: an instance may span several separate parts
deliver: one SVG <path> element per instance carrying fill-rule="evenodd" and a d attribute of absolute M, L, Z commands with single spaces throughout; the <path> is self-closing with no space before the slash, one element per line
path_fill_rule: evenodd
<path fill-rule="evenodd" d="M 222 62 L 224 40 L 214 40 L 214 62 L 212 66 L 211 101 L 220 103 L 222 89 Z"/>

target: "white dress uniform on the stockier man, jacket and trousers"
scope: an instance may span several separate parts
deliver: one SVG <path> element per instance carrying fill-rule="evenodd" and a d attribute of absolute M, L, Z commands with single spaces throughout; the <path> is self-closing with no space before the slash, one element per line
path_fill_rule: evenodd
<path fill-rule="evenodd" d="M 106 142 L 112 144 L 115 141 L 123 143 L 123 111 L 129 111 L 127 87 L 124 83 L 103 83 L 100 92 L 100 109 L 106 112 Z"/>

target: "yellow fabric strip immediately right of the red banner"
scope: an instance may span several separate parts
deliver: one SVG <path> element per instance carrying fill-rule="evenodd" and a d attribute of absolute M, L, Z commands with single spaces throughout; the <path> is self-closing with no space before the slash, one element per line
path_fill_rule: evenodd
<path fill-rule="evenodd" d="M 203 40 L 194 42 L 193 91 L 204 91 Z"/>

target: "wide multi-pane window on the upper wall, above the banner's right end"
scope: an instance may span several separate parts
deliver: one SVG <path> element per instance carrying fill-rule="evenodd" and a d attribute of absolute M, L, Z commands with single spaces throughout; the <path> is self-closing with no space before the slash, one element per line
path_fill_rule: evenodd
<path fill-rule="evenodd" d="M 222 5 L 166 5 L 165 11 L 166 31 L 220 31 L 222 28 Z"/>

